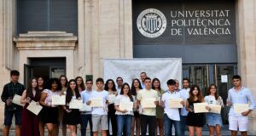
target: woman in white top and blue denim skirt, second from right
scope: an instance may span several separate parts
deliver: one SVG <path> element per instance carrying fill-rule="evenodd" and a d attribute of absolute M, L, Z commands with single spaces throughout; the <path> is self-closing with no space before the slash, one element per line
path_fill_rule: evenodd
<path fill-rule="evenodd" d="M 205 101 L 208 104 L 221 105 L 224 107 L 222 98 L 218 95 L 217 87 L 215 84 L 210 85 L 208 88 L 207 96 Z M 214 135 L 216 131 L 217 136 L 221 135 L 221 127 L 223 126 L 220 114 L 217 113 L 207 113 L 207 126 L 209 127 L 210 136 Z"/>

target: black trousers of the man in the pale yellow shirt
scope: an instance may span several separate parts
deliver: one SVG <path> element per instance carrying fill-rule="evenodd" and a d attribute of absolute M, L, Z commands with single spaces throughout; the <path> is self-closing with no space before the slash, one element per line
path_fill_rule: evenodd
<path fill-rule="evenodd" d="M 154 130 L 155 121 L 156 121 L 155 116 L 141 115 L 140 116 L 140 120 L 141 120 L 141 133 L 142 133 L 142 136 L 146 136 L 147 127 L 148 127 L 149 136 L 155 136 L 155 130 Z"/>

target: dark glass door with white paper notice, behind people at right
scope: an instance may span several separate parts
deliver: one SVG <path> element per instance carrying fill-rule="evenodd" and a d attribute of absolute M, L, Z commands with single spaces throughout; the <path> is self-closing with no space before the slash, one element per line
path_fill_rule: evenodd
<path fill-rule="evenodd" d="M 228 91 L 233 87 L 232 77 L 237 73 L 236 64 L 205 64 L 205 65 L 183 65 L 183 78 L 189 78 L 190 85 L 198 85 L 203 95 L 207 95 L 207 88 L 215 84 L 218 94 L 224 100 L 228 97 Z M 221 116 L 224 124 L 227 124 L 227 116 L 230 108 L 225 106 Z"/>

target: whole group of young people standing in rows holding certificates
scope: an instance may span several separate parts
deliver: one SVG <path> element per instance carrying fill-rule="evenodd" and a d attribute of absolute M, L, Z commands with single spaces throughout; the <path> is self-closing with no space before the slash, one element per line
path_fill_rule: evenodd
<path fill-rule="evenodd" d="M 161 88 L 160 79 L 150 79 L 145 72 L 140 74 L 141 79 L 133 79 L 131 86 L 124 83 L 122 77 L 108 79 L 96 79 L 96 89 L 93 81 L 87 79 L 84 83 L 82 77 L 67 80 L 66 76 L 50 78 L 44 82 L 43 77 L 33 77 L 28 88 L 24 88 L 18 82 L 19 71 L 11 71 L 11 82 L 3 87 L 1 99 L 5 103 L 3 136 L 9 135 L 9 128 L 12 118 L 15 115 L 16 136 L 43 136 L 46 127 L 49 136 L 57 136 L 59 127 L 62 126 L 62 135 L 67 135 L 67 127 L 70 135 L 76 135 L 77 126 L 80 124 L 82 136 L 86 135 L 86 128 L 90 125 L 90 136 L 160 136 L 172 135 L 172 126 L 175 128 L 175 135 L 184 136 L 189 128 L 189 136 L 201 136 L 202 127 L 206 124 L 209 127 L 209 135 L 216 133 L 221 135 L 223 126 L 222 118 L 218 113 L 195 113 L 194 104 L 206 102 L 208 104 L 224 106 L 224 100 L 218 95 L 216 85 L 209 86 L 207 96 L 203 97 L 201 88 L 197 85 L 190 86 L 189 79 L 183 79 L 183 89 L 179 89 L 179 82 L 170 79 L 166 82 L 167 90 Z M 234 88 L 230 88 L 227 105 L 230 105 L 229 123 L 232 135 L 238 131 L 241 135 L 247 135 L 248 114 L 255 108 L 253 94 L 248 88 L 241 85 L 241 77 L 236 75 L 232 78 Z M 116 86 L 117 85 L 117 86 Z M 15 94 L 20 95 L 20 105 L 12 103 Z M 66 95 L 65 105 L 53 105 L 52 96 Z M 85 111 L 70 109 L 69 104 L 73 99 L 82 99 L 84 105 L 92 105 L 93 99 L 101 99 L 102 106 L 92 106 Z M 149 99 L 149 101 L 148 101 Z M 150 101 L 151 99 L 151 101 Z M 180 101 L 182 108 L 172 108 L 170 99 L 183 99 Z M 43 110 L 38 115 L 28 111 L 26 107 L 33 101 L 42 105 Z M 121 108 L 121 103 L 132 102 L 132 111 Z M 145 102 L 152 103 L 155 107 L 143 107 Z M 237 114 L 234 111 L 235 104 L 248 104 L 247 111 Z M 211 111 L 211 107 L 205 107 Z M 89 109 L 89 110 L 88 110 Z M 109 130 L 109 122 L 111 129 Z M 148 128 L 148 129 L 147 129 Z M 112 133 L 111 133 L 112 132 Z"/>

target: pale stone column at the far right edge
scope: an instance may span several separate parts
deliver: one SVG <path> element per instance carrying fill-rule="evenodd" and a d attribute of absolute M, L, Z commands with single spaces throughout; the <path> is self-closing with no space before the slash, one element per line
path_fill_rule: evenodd
<path fill-rule="evenodd" d="M 236 2 L 236 39 L 238 72 L 243 85 L 250 88 L 256 99 L 256 2 Z M 256 134 L 256 109 L 249 116 L 249 133 Z"/>

